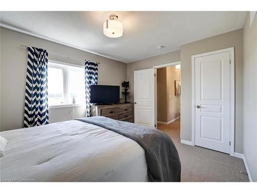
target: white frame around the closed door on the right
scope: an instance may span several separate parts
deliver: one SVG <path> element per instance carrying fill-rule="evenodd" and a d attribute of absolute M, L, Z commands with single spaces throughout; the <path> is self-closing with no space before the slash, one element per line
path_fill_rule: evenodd
<path fill-rule="evenodd" d="M 234 78 L 234 47 L 210 51 L 192 56 L 192 145 L 195 146 L 195 59 L 198 57 L 229 52 L 230 55 L 230 147 L 229 154 L 234 156 L 234 116 L 235 116 L 235 78 Z"/>

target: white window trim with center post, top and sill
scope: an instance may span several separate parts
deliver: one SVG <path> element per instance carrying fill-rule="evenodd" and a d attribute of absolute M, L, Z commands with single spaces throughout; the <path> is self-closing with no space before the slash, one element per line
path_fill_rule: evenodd
<path fill-rule="evenodd" d="M 68 102 L 68 83 L 69 83 L 69 69 L 73 68 L 72 71 L 78 71 L 79 69 L 76 69 L 78 67 L 84 68 L 84 66 L 76 65 L 76 64 L 70 64 L 66 62 L 59 62 L 55 60 L 48 60 L 48 67 L 52 68 L 60 68 L 63 70 L 63 95 L 64 95 L 64 103 L 57 103 L 57 104 L 48 104 L 48 109 L 58 109 L 58 108 L 69 108 L 69 107 L 85 107 L 86 104 L 76 103 L 72 104 Z"/>

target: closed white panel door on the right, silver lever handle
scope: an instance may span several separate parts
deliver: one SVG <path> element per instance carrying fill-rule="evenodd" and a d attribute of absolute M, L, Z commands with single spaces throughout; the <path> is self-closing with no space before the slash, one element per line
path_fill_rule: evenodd
<path fill-rule="evenodd" d="M 195 58 L 195 145 L 229 153 L 230 52 Z"/>

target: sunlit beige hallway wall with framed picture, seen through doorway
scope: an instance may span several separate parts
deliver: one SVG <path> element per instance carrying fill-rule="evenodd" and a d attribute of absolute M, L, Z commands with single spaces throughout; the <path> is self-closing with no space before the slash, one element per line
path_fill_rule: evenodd
<path fill-rule="evenodd" d="M 167 67 L 167 122 L 180 116 L 180 96 L 175 96 L 175 80 L 180 81 L 180 69 Z"/>

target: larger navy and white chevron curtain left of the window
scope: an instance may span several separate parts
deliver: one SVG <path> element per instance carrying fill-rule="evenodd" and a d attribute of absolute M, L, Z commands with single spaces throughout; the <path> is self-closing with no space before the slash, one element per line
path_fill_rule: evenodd
<path fill-rule="evenodd" d="M 48 52 L 46 50 L 28 47 L 25 128 L 48 124 L 47 58 Z"/>

